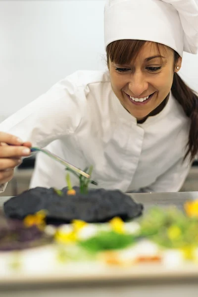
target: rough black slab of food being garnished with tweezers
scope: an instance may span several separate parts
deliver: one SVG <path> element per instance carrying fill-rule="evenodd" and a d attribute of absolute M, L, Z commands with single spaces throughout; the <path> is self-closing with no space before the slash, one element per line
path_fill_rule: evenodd
<path fill-rule="evenodd" d="M 88 194 L 81 194 L 78 187 L 74 189 L 76 195 L 67 195 L 68 189 L 63 188 L 62 196 L 53 188 L 28 190 L 4 203 L 5 215 L 23 219 L 44 209 L 47 211 L 47 223 L 61 224 L 74 219 L 102 223 L 115 216 L 127 221 L 142 214 L 143 205 L 118 190 L 90 189 Z"/>

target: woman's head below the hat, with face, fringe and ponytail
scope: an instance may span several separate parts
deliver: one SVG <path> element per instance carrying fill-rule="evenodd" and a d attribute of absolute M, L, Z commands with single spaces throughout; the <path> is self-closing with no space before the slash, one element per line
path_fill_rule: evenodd
<path fill-rule="evenodd" d="M 140 40 L 115 41 L 106 52 L 112 89 L 139 123 L 159 113 L 172 91 L 185 114 L 191 117 L 185 157 L 190 153 L 193 161 L 198 151 L 198 97 L 178 75 L 181 56 L 165 45 Z"/>

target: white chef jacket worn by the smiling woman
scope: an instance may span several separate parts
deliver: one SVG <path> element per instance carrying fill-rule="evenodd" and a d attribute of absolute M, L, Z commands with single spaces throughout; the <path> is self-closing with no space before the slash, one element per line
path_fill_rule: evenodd
<path fill-rule="evenodd" d="M 189 128 L 171 93 L 160 113 L 138 124 L 113 93 L 108 71 L 75 72 L 0 124 L 81 169 L 93 165 L 99 187 L 123 192 L 178 191 L 191 166 L 183 161 Z M 31 187 L 65 185 L 64 166 L 38 154 Z"/>

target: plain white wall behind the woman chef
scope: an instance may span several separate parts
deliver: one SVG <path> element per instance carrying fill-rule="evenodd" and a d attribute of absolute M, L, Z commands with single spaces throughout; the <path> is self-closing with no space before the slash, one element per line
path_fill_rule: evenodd
<path fill-rule="evenodd" d="M 0 0 L 0 120 L 78 69 L 104 69 L 105 0 Z M 198 55 L 182 77 L 198 91 Z"/>

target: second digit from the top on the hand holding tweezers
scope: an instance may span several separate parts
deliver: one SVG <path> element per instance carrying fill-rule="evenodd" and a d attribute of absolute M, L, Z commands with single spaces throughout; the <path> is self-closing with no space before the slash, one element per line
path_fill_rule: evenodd
<path fill-rule="evenodd" d="M 31 153 L 30 148 L 23 146 L 0 147 L 0 158 L 25 157 Z"/>

